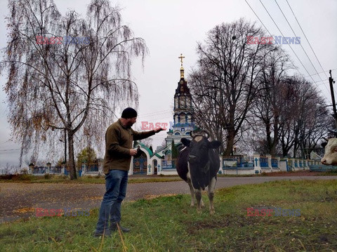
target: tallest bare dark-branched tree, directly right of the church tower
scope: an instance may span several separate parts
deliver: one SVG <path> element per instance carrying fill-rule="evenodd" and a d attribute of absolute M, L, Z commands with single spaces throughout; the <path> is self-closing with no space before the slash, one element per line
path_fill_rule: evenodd
<path fill-rule="evenodd" d="M 257 81 L 261 63 L 269 44 L 249 44 L 248 37 L 264 37 L 262 29 L 240 19 L 230 24 L 217 25 L 209 31 L 204 44 L 197 45 L 198 69 L 190 79 L 192 95 L 203 105 L 197 106 L 197 113 L 209 120 L 197 121 L 201 126 L 226 131 L 224 154 L 232 152 L 235 137 L 242 130 L 246 114 L 258 91 Z M 271 48 L 272 49 L 272 48 Z M 201 98 L 204 96 L 204 98 Z M 210 116 L 209 116 L 210 115 Z M 212 117 L 216 117 L 214 120 Z M 223 131 L 216 132 L 217 137 Z"/>

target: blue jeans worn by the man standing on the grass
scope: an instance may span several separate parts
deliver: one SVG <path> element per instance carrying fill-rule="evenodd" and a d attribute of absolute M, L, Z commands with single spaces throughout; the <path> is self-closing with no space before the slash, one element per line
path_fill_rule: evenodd
<path fill-rule="evenodd" d="M 109 230 L 110 223 L 119 223 L 121 220 L 121 201 L 126 196 L 128 185 L 128 171 L 110 170 L 105 175 L 106 192 L 100 205 L 100 214 L 95 232 Z"/>

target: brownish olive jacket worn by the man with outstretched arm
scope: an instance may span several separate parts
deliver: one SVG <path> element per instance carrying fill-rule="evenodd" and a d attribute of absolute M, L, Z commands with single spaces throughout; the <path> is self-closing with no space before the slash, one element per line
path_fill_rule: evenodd
<path fill-rule="evenodd" d="M 126 128 L 121 124 L 121 119 L 111 124 L 105 133 L 104 173 L 107 174 L 110 170 L 128 171 L 133 140 L 148 138 L 154 134 L 154 131 L 137 132 L 133 131 L 131 127 Z"/>

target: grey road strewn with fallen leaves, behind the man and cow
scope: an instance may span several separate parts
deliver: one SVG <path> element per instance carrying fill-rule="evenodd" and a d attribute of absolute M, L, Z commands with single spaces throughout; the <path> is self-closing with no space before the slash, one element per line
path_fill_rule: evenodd
<path fill-rule="evenodd" d="M 300 179 L 337 180 L 337 177 L 220 177 L 216 188 Z M 98 208 L 104 193 L 105 185 L 102 184 L 0 183 L 0 223 L 34 216 L 36 208 Z M 126 201 L 154 195 L 188 193 L 189 189 L 184 181 L 129 184 Z"/>

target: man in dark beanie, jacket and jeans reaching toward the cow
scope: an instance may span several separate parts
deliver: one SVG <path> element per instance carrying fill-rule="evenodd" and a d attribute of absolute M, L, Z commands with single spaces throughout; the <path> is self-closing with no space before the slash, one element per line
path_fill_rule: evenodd
<path fill-rule="evenodd" d="M 156 128 L 154 131 L 133 131 L 131 126 L 136 123 L 136 119 L 136 110 L 127 107 L 122 112 L 121 118 L 110 125 L 105 133 L 103 171 L 106 192 L 100 205 L 95 237 L 110 236 L 110 233 L 118 230 L 118 227 L 123 232 L 130 231 L 128 228 L 121 227 L 119 222 L 121 220 L 121 201 L 126 196 L 131 156 L 137 154 L 137 150 L 132 149 L 133 140 L 148 138 L 155 133 L 164 131 L 163 128 Z"/>

